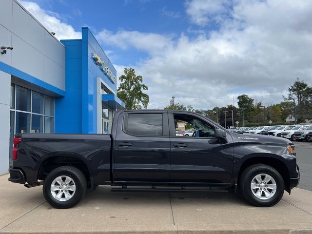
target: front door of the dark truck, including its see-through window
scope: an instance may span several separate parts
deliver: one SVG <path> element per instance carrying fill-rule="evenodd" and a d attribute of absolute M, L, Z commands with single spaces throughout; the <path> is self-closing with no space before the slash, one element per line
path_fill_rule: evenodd
<path fill-rule="evenodd" d="M 176 123 L 184 122 L 191 136 L 176 134 Z M 234 163 L 232 137 L 228 143 L 215 138 L 217 125 L 195 114 L 169 112 L 172 182 L 227 184 Z"/>

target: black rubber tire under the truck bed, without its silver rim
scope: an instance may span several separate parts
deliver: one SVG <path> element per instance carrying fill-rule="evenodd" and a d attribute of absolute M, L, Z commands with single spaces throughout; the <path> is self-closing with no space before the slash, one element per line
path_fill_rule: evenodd
<path fill-rule="evenodd" d="M 76 186 L 76 191 L 74 195 L 66 200 L 59 201 L 53 197 L 51 193 L 51 184 L 58 176 L 69 176 Z M 58 209 L 67 209 L 75 206 L 85 195 L 87 188 L 87 180 L 83 173 L 76 167 L 72 166 L 61 166 L 54 169 L 48 174 L 43 183 L 43 196 L 45 200 L 53 207 Z"/>

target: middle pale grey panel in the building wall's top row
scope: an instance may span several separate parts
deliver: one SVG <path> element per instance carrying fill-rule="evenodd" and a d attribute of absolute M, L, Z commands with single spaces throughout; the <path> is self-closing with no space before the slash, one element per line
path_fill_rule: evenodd
<path fill-rule="evenodd" d="M 12 32 L 44 53 L 44 28 L 13 1 Z"/>

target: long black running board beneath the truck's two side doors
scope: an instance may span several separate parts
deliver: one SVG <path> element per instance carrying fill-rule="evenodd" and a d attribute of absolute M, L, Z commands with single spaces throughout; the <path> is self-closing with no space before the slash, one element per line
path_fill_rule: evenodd
<path fill-rule="evenodd" d="M 146 188 L 128 188 L 127 186 L 122 186 L 121 188 L 112 188 L 111 192 L 226 192 L 229 190 L 222 188 L 192 188 L 192 187 L 178 187 L 178 188 L 156 188 L 156 187 L 146 187 Z"/>

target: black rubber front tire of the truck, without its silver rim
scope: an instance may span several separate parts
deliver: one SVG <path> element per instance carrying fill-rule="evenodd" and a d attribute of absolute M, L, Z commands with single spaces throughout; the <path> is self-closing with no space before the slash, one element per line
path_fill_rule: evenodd
<path fill-rule="evenodd" d="M 275 194 L 266 200 L 256 197 L 251 189 L 251 183 L 254 176 L 262 173 L 272 176 L 276 182 Z M 282 199 L 285 189 L 282 176 L 273 167 L 265 164 L 255 164 L 247 167 L 240 175 L 239 186 L 243 197 L 245 197 L 250 204 L 258 207 L 269 207 L 275 205 L 280 201 L 280 199 Z"/>

